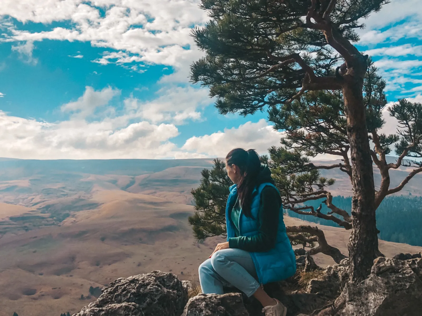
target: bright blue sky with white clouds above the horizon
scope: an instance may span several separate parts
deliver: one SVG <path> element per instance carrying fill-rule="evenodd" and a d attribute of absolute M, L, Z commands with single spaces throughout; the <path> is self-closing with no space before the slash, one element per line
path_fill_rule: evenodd
<path fill-rule="evenodd" d="M 422 102 L 421 11 L 419 0 L 393 0 L 360 31 L 390 102 Z M 197 0 L 5 0 L 0 156 L 195 158 L 276 145 L 265 113 L 219 115 L 188 82 L 202 55 L 190 29 L 207 20 Z"/>

